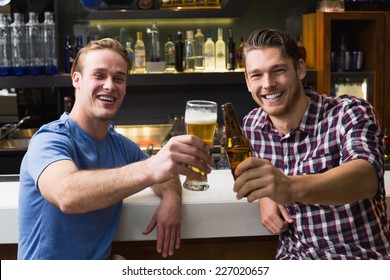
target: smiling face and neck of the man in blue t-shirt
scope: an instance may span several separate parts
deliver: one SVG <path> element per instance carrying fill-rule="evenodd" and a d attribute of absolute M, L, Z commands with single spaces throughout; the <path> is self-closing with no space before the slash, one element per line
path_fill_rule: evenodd
<path fill-rule="evenodd" d="M 127 63 L 109 49 L 91 50 L 79 59 L 83 67 L 72 74 L 76 102 L 70 115 L 85 130 L 96 122 L 108 125 L 126 94 Z"/>

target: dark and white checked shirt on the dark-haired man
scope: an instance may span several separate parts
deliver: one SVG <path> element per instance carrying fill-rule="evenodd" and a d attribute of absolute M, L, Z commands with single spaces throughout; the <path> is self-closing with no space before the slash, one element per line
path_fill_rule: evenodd
<path fill-rule="evenodd" d="M 277 259 L 390 259 L 389 221 L 383 168 L 383 134 L 364 100 L 331 98 L 306 92 L 310 106 L 298 127 L 283 135 L 256 108 L 244 118 L 243 131 L 253 154 L 285 175 L 322 173 L 354 159 L 377 170 L 374 198 L 345 205 L 291 203 L 294 220 L 279 237 Z"/>

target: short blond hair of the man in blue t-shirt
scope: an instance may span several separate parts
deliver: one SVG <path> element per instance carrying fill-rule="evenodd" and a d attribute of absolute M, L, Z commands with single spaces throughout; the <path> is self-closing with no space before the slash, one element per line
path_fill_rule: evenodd
<path fill-rule="evenodd" d="M 83 60 L 84 56 L 89 52 L 89 51 L 95 51 L 95 50 L 104 50 L 104 49 L 109 49 L 117 54 L 119 54 L 123 59 L 126 61 L 127 64 L 127 70 L 130 68 L 130 59 L 129 59 L 129 54 L 127 53 L 127 50 L 115 39 L 111 38 L 104 38 L 96 41 L 90 41 L 87 45 L 85 45 L 83 48 L 79 50 L 77 53 L 76 58 L 73 61 L 71 73 L 73 72 L 81 72 L 83 70 Z"/>

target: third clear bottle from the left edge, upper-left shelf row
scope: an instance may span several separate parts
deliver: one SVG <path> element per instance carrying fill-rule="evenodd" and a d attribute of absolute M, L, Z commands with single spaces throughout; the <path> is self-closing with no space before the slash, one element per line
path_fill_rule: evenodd
<path fill-rule="evenodd" d="M 30 75 L 39 75 L 43 73 L 41 25 L 38 22 L 37 13 L 29 12 L 28 17 L 26 24 L 27 69 Z"/>

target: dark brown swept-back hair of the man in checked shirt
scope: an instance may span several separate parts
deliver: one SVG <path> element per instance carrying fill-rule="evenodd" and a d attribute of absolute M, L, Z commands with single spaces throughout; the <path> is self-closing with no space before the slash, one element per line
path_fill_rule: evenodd
<path fill-rule="evenodd" d="M 291 58 L 294 67 L 298 67 L 300 53 L 296 42 L 286 33 L 276 29 L 258 29 L 249 36 L 244 44 L 244 65 L 249 51 L 269 47 L 280 48 L 282 55 Z"/>

